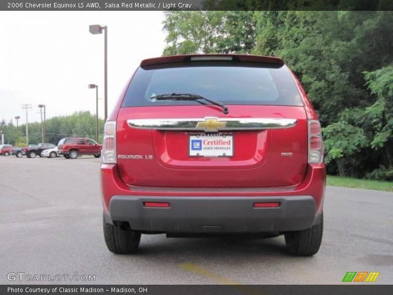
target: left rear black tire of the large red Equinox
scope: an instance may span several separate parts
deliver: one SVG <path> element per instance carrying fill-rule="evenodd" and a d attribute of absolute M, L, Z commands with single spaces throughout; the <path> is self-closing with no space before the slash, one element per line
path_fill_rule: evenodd
<path fill-rule="evenodd" d="M 104 238 L 108 250 L 115 254 L 130 254 L 138 250 L 140 233 L 132 231 L 128 223 L 114 226 L 103 218 Z"/>

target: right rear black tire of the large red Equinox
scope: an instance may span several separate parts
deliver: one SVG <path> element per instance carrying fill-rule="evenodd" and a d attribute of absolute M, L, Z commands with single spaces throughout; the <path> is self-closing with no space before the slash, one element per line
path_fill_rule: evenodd
<path fill-rule="evenodd" d="M 321 246 L 323 233 L 323 214 L 321 220 L 311 228 L 285 233 L 285 244 L 288 252 L 296 256 L 312 256 Z"/>

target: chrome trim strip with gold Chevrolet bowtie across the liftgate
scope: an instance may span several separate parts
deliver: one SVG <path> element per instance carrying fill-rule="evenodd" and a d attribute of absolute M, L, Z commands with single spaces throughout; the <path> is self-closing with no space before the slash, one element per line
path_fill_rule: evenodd
<path fill-rule="evenodd" d="M 128 119 L 132 128 L 218 132 L 228 130 L 263 130 L 289 128 L 297 119 L 289 118 L 162 118 Z"/>

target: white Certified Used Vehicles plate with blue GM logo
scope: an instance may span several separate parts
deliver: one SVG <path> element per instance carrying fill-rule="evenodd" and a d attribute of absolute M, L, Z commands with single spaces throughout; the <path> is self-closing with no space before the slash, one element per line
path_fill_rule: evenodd
<path fill-rule="evenodd" d="M 190 134 L 190 157 L 233 157 L 233 135 L 230 133 Z"/>

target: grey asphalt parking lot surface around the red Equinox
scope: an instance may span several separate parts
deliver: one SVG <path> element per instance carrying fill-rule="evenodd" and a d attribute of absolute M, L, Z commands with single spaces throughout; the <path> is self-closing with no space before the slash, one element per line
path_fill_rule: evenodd
<path fill-rule="evenodd" d="M 95 275 L 58 284 L 339 284 L 347 271 L 393 282 L 393 193 L 327 187 L 322 247 L 312 258 L 287 255 L 282 236 L 142 235 L 138 254 L 119 256 L 103 239 L 100 161 L 0 157 L 1 284 L 43 283 L 9 281 L 10 272 Z"/>

